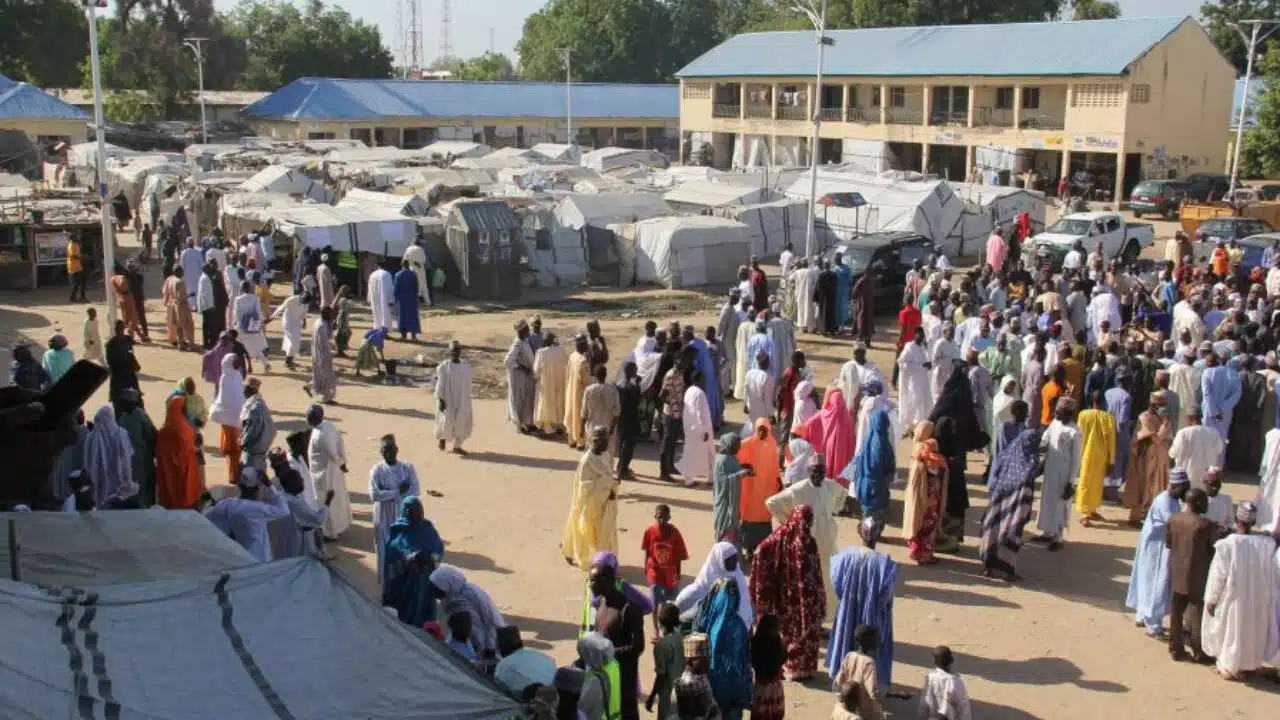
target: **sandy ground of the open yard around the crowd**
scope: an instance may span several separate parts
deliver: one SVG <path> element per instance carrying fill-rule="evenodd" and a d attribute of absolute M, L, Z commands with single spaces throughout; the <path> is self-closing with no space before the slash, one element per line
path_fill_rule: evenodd
<path fill-rule="evenodd" d="M 1161 224 L 1161 238 L 1172 232 Z M 129 240 L 125 240 L 128 243 Z M 1162 246 L 1161 246 L 1162 247 Z M 1156 249 L 1158 250 L 1158 247 Z M 148 297 L 159 297 L 159 269 L 148 278 Z M 275 286 L 276 295 L 284 286 Z M 102 313 L 101 287 L 90 291 Z M 0 295 L 0 345 L 8 350 L 19 338 L 44 343 L 61 329 L 72 347 L 79 345 L 82 305 L 64 302 L 65 290 Z M 705 327 L 714 322 L 716 300 L 692 293 L 660 291 L 598 293 L 573 292 L 535 296 L 518 311 L 503 307 L 451 306 L 433 310 L 425 320 L 421 345 L 392 342 L 389 355 L 431 359 L 444 352 L 448 340 L 458 338 L 480 365 L 481 378 L 498 378 L 498 363 L 509 343 L 511 324 L 526 315 L 526 306 L 539 307 L 548 329 L 568 336 L 581 328 L 589 313 L 603 319 L 604 334 L 614 356 L 635 343 L 643 320 L 681 319 Z M 631 314 L 623 318 L 623 314 Z M 152 337 L 163 337 L 164 316 L 157 300 L 148 301 Z M 356 314 L 356 332 L 367 327 L 369 315 Z M 104 328 L 105 332 L 105 328 Z M 886 318 L 870 357 L 886 372 L 891 366 L 893 323 Z M 271 345 L 279 347 L 273 327 Z M 358 334 L 357 334 L 358 337 Z M 820 382 L 832 380 L 851 354 L 851 343 L 801 337 Z M 159 421 L 159 406 L 174 383 L 198 374 L 198 355 L 182 354 L 152 343 L 137 351 L 148 410 Z M 0 355 L 8 363 L 8 352 Z M 264 395 L 275 415 L 279 434 L 303 427 L 307 397 L 301 389 L 308 360 L 298 373 L 273 364 L 262 375 Z M 369 469 L 378 460 L 376 438 L 396 433 L 402 457 L 417 466 L 424 488 L 443 493 L 428 498 L 428 515 L 448 543 L 445 561 L 467 573 L 498 602 L 508 623 L 518 625 L 526 642 L 553 653 L 559 661 L 573 657 L 573 638 L 580 611 L 582 575 L 561 559 L 558 542 L 568 509 L 570 488 L 577 454 L 563 442 L 524 437 L 504 421 L 502 400 L 477 400 L 476 433 L 468 443 L 472 455 L 461 459 L 435 451 L 433 443 L 434 402 L 425 386 L 387 387 L 351 378 L 349 361 L 339 364 L 340 405 L 329 416 L 344 434 L 351 475 L 347 486 L 356 509 L 356 525 L 343 537 L 338 566 L 362 588 L 374 593 L 372 532 L 370 528 Z M 202 383 L 204 384 L 204 383 Z M 202 387 L 206 400 L 212 392 Z M 477 395 L 495 397 L 500 386 L 488 384 Z M 105 388 L 87 405 L 87 414 L 105 402 Z M 727 418 L 737 420 L 741 405 L 730 405 Z M 211 433 L 206 433 L 210 436 Z M 209 482 L 225 480 L 225 464 L 210 451 Z M 908 448 L 899 448 L 905 459 Z M 984 459 L 974 456 L 970 473 L 980 473 Z M 673 521 L 682 532 L 694 559 L 684 568 L 685 582 L 698 571 L 710 543 L 710 492 L 658 483 L 657 447 L 641 446 L 635 465 L 640 479 L 625 483 L 620 493 L 620 543 L 626 577 L 643 584 L 643 555 L 639 544 L 652 521 L 653 506 L 671 505 Z M 900 471 L 900 478 L 901 478 Z M 970 475 L 972 478 L 973 475 Z M 1234 478 L 1226 492 L 1236 500 L 1256 493 L 1257 478 Z M 968 683 L 979 719 L 1078 719 L 1078 717 L 1267 717 L 1275 710 L 1280 684 L 1260 680 L 1254 685 L 1220 680 L 1211 669 L 1174 664 L 1165 646 L 1147 639 L 1124 609 L 1124 597 L 1137 541 L 1137 530 L 1123 524 L 1126 511 L 1107 506 L 1108 520 L 1100 528 L 1073 527 L 1064 552 L 1047 553 L 1030 546 L 1020 556 L 1025 578 L 1016 585 L 980 577 L 973 536 L 986 505 L 980 483 L 970 482 L 974 509 L 969 512 L 969 543 L 959 556 L 941 565 L 916 568 L 906 559 L 897 528 L 902 511 L 902 482 L 895 483 L 888 530 L 882 548 L 902 562 L 896 589 L 895 669 L 896 689 L 916 693 L 931 667 L 931 650 L 948 644 L 956 653 L 956 669 Z M 841 520 L 841 544 L 859 544 L 851 520 Z M 641 676 L 648 685 L 652 660 L 645 657 Z M 827 683 L 786 687 L 790 716 L 827 717 L 832 696 Z M 892 716 L 914 717 L 916 700 L 891 700 Z M 1267 710 L 1271 708 L 1271 711 Z"/>

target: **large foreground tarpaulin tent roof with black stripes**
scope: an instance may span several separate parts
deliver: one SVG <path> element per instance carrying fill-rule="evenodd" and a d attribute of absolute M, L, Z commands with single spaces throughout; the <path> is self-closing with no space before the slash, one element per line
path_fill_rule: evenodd
<path fill-rule="evenodd" d="M 0 580 L 0 632 L 3 717 L 526 716 L 311 559 L 138 584 Z"/>

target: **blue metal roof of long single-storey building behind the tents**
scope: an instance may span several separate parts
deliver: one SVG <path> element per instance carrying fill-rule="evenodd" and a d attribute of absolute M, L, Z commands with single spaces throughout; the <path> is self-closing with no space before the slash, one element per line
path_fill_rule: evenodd
<path fill-rule="evenodd" d="M 680 117 L 675 85 L 573 86 L 575 118 Z M 563 118 L 564 86 L 552 82 L 300 78 L 244 109 L 251 118 Z"/>

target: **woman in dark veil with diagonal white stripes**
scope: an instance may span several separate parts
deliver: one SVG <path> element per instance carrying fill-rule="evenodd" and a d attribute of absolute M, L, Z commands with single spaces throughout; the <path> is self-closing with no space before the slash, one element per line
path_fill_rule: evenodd
<path fill-rule="evenodd" d="M 978 551 L 983 575 L 988 578 L 1001 570 L 1009 582 L 1018 579 L 1018 551 L 1023 546 L 1023 528 L 1032 519 L 1036 475 L 1039 474 L 1038 451 L 1039 432 L 1023 430 L 1000 454 L 1000 466 L 992 473 L 991 500 L 982 518 L 982 546 Z"/>

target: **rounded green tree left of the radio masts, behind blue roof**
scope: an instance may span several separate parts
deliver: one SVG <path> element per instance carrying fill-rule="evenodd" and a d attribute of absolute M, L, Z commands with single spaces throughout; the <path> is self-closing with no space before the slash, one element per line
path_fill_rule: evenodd
<path fill-rule="evenodd" d="M 247 53 L 238 87 L 275 90 L 300 77 L 392 77 L 392 54 L 378 28 L 320 0 L 303 9 L 242 0 L 228 22 Z"/>

